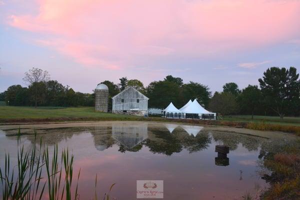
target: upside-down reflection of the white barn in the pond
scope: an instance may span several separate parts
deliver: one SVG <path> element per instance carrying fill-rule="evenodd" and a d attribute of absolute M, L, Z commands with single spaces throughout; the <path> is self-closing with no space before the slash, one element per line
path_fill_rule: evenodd
<path fill-rule="evenodd" d="M 131 149 L 148 137 L 148 124 L 112 123 L 112 137 L 127 149 Z"/>

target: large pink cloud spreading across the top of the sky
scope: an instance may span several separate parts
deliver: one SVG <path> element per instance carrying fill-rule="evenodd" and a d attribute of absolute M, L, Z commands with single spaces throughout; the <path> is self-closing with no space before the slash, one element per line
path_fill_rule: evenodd
<path fill-rule="evenodd" d="M 36 0 L 36 6 L 37 14 L 11 13 L 8 23 L 40 34 L 38 44 L 76 62 L 111 69 L 144 56 L 211 57 L 300 33 L 294 0 Z"/>

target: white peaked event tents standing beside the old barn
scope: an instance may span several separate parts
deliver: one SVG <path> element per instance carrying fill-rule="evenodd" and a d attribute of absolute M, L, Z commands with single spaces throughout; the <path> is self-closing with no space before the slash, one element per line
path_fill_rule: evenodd
<path fill-rule="evenodd" d="M 216 119 L 214 112 L 204 109 L 196 99 L 189 100 L 180 109 L 177 109 L 172 102 L 163 110 L 163 117 L 166 118 L 197 118 Z"/>

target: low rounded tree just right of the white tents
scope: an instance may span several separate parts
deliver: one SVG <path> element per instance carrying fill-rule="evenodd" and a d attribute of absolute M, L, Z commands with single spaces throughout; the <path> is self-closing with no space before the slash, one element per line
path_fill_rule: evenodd
<path fill-rule="evenodd" d="M 232 114 L 237 111 L 236 97 L 229 92 L 215 92 L 208 107 L 211 111 L 222 115 Z"/>

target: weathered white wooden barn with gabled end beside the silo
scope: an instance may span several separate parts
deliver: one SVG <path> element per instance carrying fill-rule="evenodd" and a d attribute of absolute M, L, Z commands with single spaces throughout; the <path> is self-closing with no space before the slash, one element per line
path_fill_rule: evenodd
<path fill-rule="evenodd" d="M 144 116 L 148 113 L 149 98 L 132 86 L 112 97 L 112 113 Z"/>

